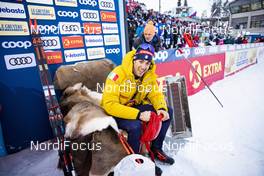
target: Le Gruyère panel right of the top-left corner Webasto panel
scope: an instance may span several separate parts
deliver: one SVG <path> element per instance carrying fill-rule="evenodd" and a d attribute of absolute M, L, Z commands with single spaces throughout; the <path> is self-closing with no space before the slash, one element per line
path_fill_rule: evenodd
<path fill-rule="evenodd" d="M 31 19 L 55 20 L 54 7 L 28 5 L 28 13 Z"/>

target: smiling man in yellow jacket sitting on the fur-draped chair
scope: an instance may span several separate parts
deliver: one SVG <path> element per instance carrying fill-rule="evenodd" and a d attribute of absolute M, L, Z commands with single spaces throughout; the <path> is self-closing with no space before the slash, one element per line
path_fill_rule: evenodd
<path fill-rule="evenodd" d="M 135 153 L 140 151 L 142 121 L 150 120 L 151 112 L 162 115 L 162 127 L 152 142 L 151 150 L 161 162 L 173 164 L 174 159 L 162 151 L 162 144 L 170 125 L 172 110 L 167 107 L 164 95 L 158 88 L 154 48 L 143 43 L 130 51 L 122 64 L 107 77 L 101 105 L 115 117 L 118 127 L 127 131 L 128 143 Z M 156 175 L 162 171 L 156 166 Z"/>

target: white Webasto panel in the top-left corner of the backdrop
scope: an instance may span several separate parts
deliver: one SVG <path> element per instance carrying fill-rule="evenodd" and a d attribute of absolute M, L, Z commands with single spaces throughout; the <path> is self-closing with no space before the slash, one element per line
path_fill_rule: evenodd
<path fill-rule="evenodd" d="M 26 18 L 22 4 L 0 2 L 0 18 Z"/>

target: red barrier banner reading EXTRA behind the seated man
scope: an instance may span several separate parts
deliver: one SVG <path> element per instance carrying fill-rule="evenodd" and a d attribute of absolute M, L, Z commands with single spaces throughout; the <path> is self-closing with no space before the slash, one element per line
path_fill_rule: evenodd
<path fill-rule="evenodd" d="M 188 95 L 193 95 L 205 87 L 195 70 L 208 85 L 224 78 L 225 54 L 190 58 L 189 61 L 193 67 L 186 59 L 157 64 L 158 81 L 164 84 L 166 77 L 185 76 Z"/>

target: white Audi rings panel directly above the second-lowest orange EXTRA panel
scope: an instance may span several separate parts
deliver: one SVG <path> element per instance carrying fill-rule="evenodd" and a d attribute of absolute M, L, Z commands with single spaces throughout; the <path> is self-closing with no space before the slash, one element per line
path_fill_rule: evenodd
<path fill-rule="evenodd" d="M 80 34 L 81 25 L 80 23 L 74 22 L 59 22 L 61 34 Z"/>

